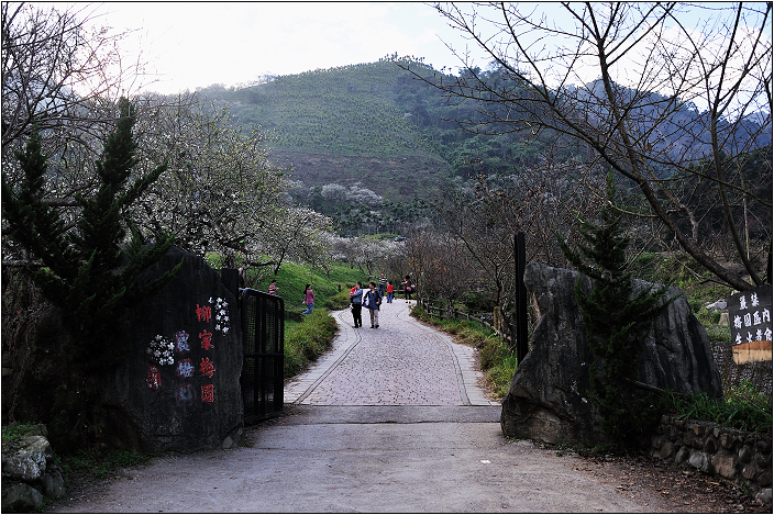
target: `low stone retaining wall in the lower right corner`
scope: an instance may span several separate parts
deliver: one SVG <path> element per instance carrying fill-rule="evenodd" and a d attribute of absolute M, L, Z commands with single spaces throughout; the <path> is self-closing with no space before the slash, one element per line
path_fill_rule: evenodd
<path fill-rule="evenodd" d="M 651 439 L 651 456 L 745 483 L 755 492 L 772 488 L 771 433 L 748 433 L 664 415 Z"/>

